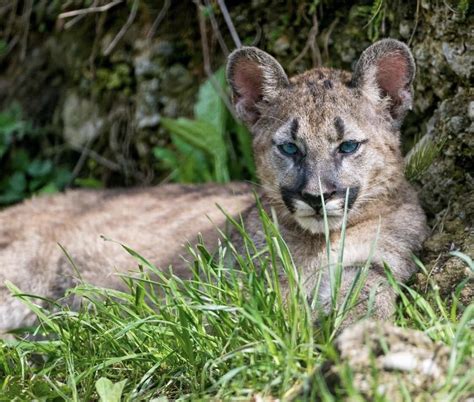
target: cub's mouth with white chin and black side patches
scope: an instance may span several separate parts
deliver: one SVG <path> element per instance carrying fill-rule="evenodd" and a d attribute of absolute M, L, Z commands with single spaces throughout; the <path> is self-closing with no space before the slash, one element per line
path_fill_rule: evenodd
<path fill-rule="evenodd" d="M 324 232 L 324 210 L 330 229 L 335 229 L 342 224 L 346 202 L 347 188 L 332 193 L 312 195 L 296 193 L 282 189 L 283 201 L 295 220 L 304 229 L 313 233 Z M 359 187 L 350 187 L 347 197 L 347 210 L 349 211 L 357 200 Z M 324 200 L 324 205 L 323 205 Z"/>

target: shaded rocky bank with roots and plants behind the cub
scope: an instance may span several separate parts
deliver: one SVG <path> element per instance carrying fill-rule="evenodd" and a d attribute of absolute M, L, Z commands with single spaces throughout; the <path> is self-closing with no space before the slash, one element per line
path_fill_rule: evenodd
<path fill-rule="evenodd" d="M 350 69 L 370 43 L 393 37 L 418 67 L 402 145 L 425 144 L 407 174 L 433 231 L 430 273 L 417 284 L 432 277 L 449 294 L 472 281 L 450 254 L 472 255 L 474 238 L 469 1 L 226 6 L 228 15 L 217 0 L 0 0 L 0 205 L 67 187 L 255 180 L 222 69 L 237 38 L 291 75 Z M 461 296 L 472 295 L 471 282 Z"/>

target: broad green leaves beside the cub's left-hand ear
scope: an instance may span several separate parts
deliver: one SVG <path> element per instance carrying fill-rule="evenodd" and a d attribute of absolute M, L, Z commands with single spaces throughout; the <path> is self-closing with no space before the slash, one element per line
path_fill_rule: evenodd
<path fill-rule="evenodd" d="M 217 88 L 216 88 L 217 87 Z M 174 149 L 156 147 L 162 167 L 178 182 L 228 182 L 255 176 L 251 137 L 235 121 L 222 100 L 226 94 L 224 69 L 204 82 L 194 107 L 194 119 L 163 118 Z"/>

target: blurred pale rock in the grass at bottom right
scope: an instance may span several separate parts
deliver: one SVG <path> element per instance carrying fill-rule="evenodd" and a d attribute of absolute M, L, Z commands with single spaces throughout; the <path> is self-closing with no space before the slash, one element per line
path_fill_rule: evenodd
<path fill-rule="evenodd" d="M 426 398 L 447 376 L 450 349 L 421 331 L 366 320 L 346 328 L 335 345 L 342 364 L 331 365 L 326 376 L 338 377 L 347 364 L 354 387 L 367 399 L 404 401 L 406 391 Z"/>

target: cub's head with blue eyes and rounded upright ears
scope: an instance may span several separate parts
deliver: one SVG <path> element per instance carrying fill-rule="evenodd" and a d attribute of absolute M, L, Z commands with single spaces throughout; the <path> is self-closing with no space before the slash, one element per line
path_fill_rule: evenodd
<path fill-rule="evenodd" d="M 353 74 L 314 69 L 289 79 L 269 54 L 244 47 L 227 77 L 254 138 L 257 171 L 280 217 L 324 231 L 367 217 L 403 183 L 399 127 L 411 108 L 415 64 L 406 45 L 381 40 Z"/>

